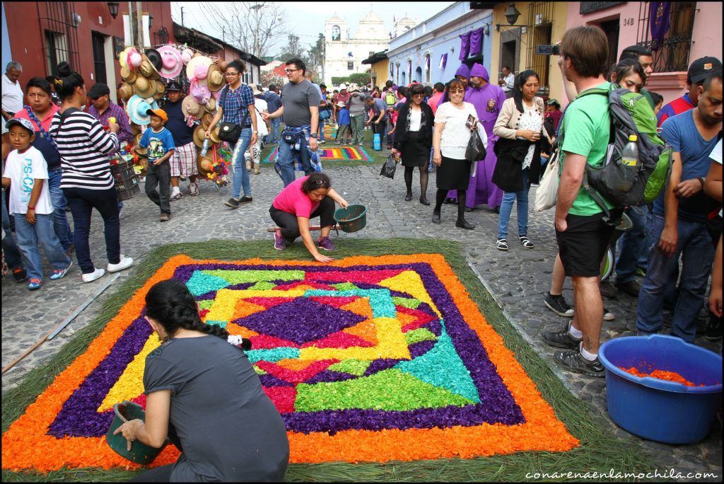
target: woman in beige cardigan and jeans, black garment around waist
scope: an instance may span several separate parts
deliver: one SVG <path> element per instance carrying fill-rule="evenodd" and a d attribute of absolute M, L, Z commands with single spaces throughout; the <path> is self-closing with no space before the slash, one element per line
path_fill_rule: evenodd
<path fill-rule="evenodd" d="M 543 99 L 535 96 L 538 83 L 535 71 L 521 72 L 515 78 L 513 97 L 502 104 L 493 128 L 493 133 L 500 139 L 495 145 L 497 163 L 492 180 L 505 192 L 500 205 L 495 243 L 501 251 L 508 250 L 508 222 L 516 200 L 518 241 L 526 249 L 534 247 L 528 238 L 528 191 L 531 180 L 539 179 L 542 136 L 544 141 L 550 142 L 543 129 Z"/>

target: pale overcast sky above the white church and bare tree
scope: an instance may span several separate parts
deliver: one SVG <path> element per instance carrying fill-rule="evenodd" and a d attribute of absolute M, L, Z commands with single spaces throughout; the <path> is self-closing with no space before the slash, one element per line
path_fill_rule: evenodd
<path fill-rule="evenodd" d="M 224 2 L 209 2 L 224 3 Z M 422 22 L 433 17 L 434 14 L 445 9 L 448 5 L 454 3 L 452 1 L 282 1 L 287 12 L 290 25 L 290 33 L 300 37 L 300 43 L 305 48 L 309 44 L 316 42 L 319 33 L 324 33 L 324 20 L 332 17 L 335 13 L 347 21 L 350 35 L 354 36 L 359 25 L 359 21 L 370 11 L 379 14 L 384 20 L 384 26 L 388 32 L 392 31 L 392 17 L 399 20 L 401 17 L 411 17 L 413 20 Z M 206 2 L 187 2 L 172 1 L 171 12 L 174 22 L 181 23 L 181 7 L 184 9 L 184 25 L 186 27 L 201 30 L 210 36 L 222 38 L 222 33 L 216 32 L 211 24 L 206 21 L 201 9 L 206 6 Z M 272 49 L 273 54 L 277 54 L 279 49 L 287 43 L 287 38 L 282 37 L 277 41 L 278 45 Z"/>

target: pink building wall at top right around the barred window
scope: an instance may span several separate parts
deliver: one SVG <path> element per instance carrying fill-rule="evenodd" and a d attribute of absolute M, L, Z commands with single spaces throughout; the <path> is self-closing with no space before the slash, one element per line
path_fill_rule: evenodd
<path fill-rule="evenodd" d="M 578 13 L 580 2 L 571 2 L 568 7 L 568 28 L 578 25 L 599 25 L 606 20 L 619 19 L 618 55 L 628 46 L 636 43 L 636 33 L 639 29 L 639 1 L 627 1 L 605 10 L 581 15 Z M 691 54 L 689 63 L 699 57 L 712 56 L 722 58 L 722 2 L 697 1 L 694 13 L 694 30 L 692 35 Z M 686 93 L 686 71 L 682 72 L 654 72 L 649 78 L 647 89 L 660 93 L 664 103 Z M 564 96 L 565 97 L 565 96 Z M 563 101 L 561 100 L 564 104 Z"/>

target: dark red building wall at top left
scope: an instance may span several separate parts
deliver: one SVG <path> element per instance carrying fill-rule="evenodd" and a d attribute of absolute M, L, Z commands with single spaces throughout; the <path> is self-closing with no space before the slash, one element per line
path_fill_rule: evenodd
<path fill-rule="evenodd" d="M 143 1 L 141 2 L 143 12 L 153 16 L 151 26 L 151 43 L 158 41 L 158 32 L 165 27 L 168 32 L 168 42 L 173 42 L 173 23 L 171 18 L 170 2 Z M 67 8 L 63 7 L 67 5 Z M 104 1 L 76 1 L 76 2 L 44 2 L 44 1 L 9 1 L 4 2 L 5 15 L 7 17 L 7 28 L 10 38 L 10 49 L 12 57 L 22 64 L 22 75 L 20 85 L 30 78 L 50 75 L 48 72 L 46 53 L 43 50 L 44 30 L 59 30 L 59 27 L 68 30 L 61 22 L 72 23 L 72 12 L 80 15 L 80 23 L 77 24 L 77 46 L 70 45 L 69 50 L 77 50 L 77 57 L 70 59 L 74 70 L 83 76 L 86 86 L 90 88 L 95 83 L 96 67 L 93 63 L 93 37 L 92 32 L 98 32 L 106 36 L 115 36 L 123 39 L 123 15 L 128 14 L 128 2 L 122 1 L 119 5 L 118 16 L 114 20 L 109 12 L 108 5 Z M 53 20 L 47 20 L 49 17 Z M 77 65 L 75 62 L 77 59 Z M 120 65 L 114 60 L 116 80 L 120 82 Z M 91 74 L 93 74 L 91 76 Z M 112 91 L 112 89 L 111 89 Z"/>

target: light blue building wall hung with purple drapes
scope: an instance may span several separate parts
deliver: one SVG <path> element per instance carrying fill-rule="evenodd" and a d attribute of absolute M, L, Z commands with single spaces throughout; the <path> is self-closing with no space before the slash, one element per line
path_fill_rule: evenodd
<path fill-rule="evenodd" d="M 487 25 L 487 36 L 483 36 L 483 65 L 490 71 L 492 51 L 492 10 L 471 10 L 470 2 L 457 2 L 436 16 L 421 22 L 414 29 L 390 42 L 390 68 L 394 66 L 391 78 L 395 84 L 408 85 L 412 80 L 422 83 L 447 83 L 455 76 L 462 61 L 460 56 L 460 35 Z M 429 34 L 433 33 L 432 38 Z M 450 49 L 453 49 L 452 51 Z M 401 49 L 401 50 L 398 50 Z M 426 76 L 426 55 L 430 55 L 430 75 Z M 447 54 L 445 70 L 440 70 L 442 54 Z M 408 72 L 408 60 L 412 60 L 412 77 Z M 400 64 L 399 75 L 397 63 Z M 419 69 L 419 70 L 418 70 Z M 420 77 L 422 78 L 420 80 Z"/>

